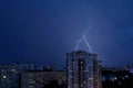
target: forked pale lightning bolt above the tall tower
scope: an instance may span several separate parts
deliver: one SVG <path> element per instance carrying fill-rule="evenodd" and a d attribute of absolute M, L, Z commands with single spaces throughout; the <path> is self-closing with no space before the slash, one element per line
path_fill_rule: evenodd
<path fill-rule="evenodd" d="M 90 29 L 90 28 L 89 28 L 89 29 Z M 76 43 L 76 46 L 75 46 L 74 51 L 78 51 L 80 43 L 81 43 L 82 41 L 84 41 L 85 44 L 86 44 L 86 46 L 88 46 L 88 48 L 89 48 L 89 51 L 92 53 L 91 45 L 90 45 L 90 43 L 88 42 L 86 36 L 85 36 L 86 33 L 88 33 L 88 30 L 85 30 L 84 33 L 83 33 L 83 35 L 78 40 L 78 43 Z"/>

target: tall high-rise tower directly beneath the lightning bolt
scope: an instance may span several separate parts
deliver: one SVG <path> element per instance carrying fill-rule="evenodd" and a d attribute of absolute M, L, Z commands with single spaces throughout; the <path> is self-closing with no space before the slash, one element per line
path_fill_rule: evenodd
<path fill-rule="evenodd" d="M 102 88 L 102 63 L 96 54 L 75 51 L 66 54 L 68 88 Z"/>

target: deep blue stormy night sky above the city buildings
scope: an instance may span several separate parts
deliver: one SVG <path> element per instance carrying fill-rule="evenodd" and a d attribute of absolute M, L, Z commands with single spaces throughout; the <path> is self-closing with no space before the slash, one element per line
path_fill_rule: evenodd
<path fill-rule="evenodd" d="M 103 65 L 133 62 L 133 0 L 0 0 L 0 64 L 64 65 L 89 26 Z"/>

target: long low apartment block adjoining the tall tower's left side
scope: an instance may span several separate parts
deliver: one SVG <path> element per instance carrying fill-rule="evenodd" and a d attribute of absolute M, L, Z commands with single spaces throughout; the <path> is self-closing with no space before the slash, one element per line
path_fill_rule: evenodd
<path fill-rule="evenodd" d="M 21 74 L 21 88 L 47 88 L 51 81 L 66 85 L 66 72 L 61 70 L 32 70 Z M 54 87 L 57 88 L 57 87 Z"/>

